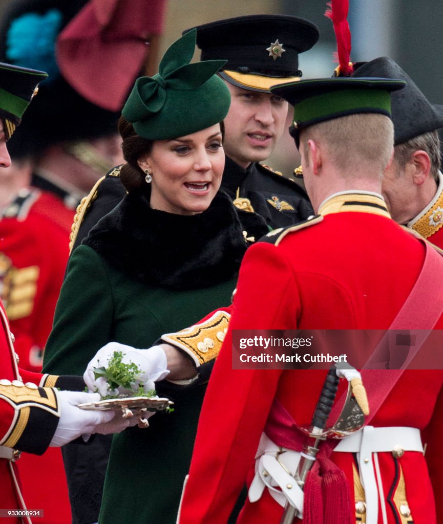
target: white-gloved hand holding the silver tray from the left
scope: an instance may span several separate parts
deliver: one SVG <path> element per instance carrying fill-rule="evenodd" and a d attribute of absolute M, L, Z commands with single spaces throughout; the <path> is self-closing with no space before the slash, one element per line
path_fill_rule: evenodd
<path fill-rule="evenodd" d="M 124 419 L 114 417 L 114 411 L 87 411 L 77 407 L 85 402 L 98 402 L 100 395 L 84 391 L 56 391 L 60 406 L 60 418 L 50 446 L 63 446 L 82 434 L 120 433 L 129 425 L 135 425 L 137 417 Z"/>

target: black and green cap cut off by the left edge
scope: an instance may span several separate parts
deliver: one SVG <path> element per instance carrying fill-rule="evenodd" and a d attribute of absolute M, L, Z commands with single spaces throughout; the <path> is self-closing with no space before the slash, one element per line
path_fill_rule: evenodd
<path fill-rule="evenodd" d="M 0 62 L 0 118 L 8 140 L 47 73 Z"/>

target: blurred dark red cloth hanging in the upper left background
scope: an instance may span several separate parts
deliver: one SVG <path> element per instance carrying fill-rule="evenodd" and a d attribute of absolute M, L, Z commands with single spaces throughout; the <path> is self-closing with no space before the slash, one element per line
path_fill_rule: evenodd
<path fill-rule="evenodd" d="M 155 51 L 165 6 L 166 0 L 90 0 L 57 38 L 63 77 L 90 102 L 120 111 Z"/>

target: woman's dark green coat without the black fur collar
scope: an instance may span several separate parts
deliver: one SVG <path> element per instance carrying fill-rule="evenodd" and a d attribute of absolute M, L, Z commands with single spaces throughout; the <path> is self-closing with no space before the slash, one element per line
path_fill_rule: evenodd
<path fill-rule="evenodd" d="M 116 341 L 146 348 L 163 334 L 228 305 L 235 279 L 193 290 L 141 284 L 106 263 L 89 246 L 74 250 L 45 350 L 45 370 L 83 374 L 96 351 Z M 205 385 L 176 396 L 172 413 L 156 413 L 148 429 L 115 435 L 100 522 L 176 521 L 188 473 Z"/>

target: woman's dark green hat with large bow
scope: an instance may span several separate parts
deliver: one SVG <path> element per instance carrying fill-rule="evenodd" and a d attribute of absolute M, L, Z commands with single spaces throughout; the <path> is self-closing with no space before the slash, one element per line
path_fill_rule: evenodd
<path fill-rule="evenodd" d="M 225 60 L 189 63 L 195 45 L 194 29 L 166 51 L 154 77 L 135 81 L 122 115 L 138 135 L 177 138 L 213 126 L 228 114 L 229 89 L 215 74 Z"/>

